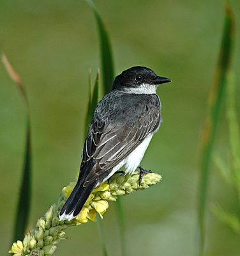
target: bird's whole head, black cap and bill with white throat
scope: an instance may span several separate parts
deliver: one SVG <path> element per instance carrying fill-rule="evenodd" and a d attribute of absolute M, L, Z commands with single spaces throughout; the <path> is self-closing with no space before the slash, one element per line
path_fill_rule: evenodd
<path fill-rule="evenodd" d="M 118 75 L 112 89 L 128 93 L 151 94 L 156 93 L 159 84 L 170 81 L 167 77 L 157 76 L 150 68 L 136 66 L 128 68 Z"/>

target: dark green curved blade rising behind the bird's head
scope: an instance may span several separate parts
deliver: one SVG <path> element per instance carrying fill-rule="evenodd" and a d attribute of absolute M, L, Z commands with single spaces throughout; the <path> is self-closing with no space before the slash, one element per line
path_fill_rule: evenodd
<path fill-rule="evenodd" d="M 114 81 L 114 64 L 112 59 L 112 46 L 110 44 L 109 34 L 107 28 L 101 19 L 96 6 L 93 1 L 86 0 L 89 6 L 91 6 L 96 23 L 98 26 L 98 34 L 100 41 L 100 52 L 101 52 L 101 74 L 103 79 L 103 90 L 104 94 L 107 94 L 112 89 L 112 83 Z"/>

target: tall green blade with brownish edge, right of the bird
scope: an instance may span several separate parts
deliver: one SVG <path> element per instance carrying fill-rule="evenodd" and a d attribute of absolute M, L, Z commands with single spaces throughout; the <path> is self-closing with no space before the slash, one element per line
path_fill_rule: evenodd
<path fill-rule="evenodd" d="M 227 72 L 229 72 L 232 56 L 233 36 L 234 18 L 230 5 L 226 4 L 225 24 L 221 41 L 220 56 L 216 66 L 216 77 L 213 83 L 213 88 L 209 94 L 209 113 L 203 129 L 198 205 L 198 255 L 203 255 L 204 253 L 204 217 L 206 210 L 207 187 L 209 182 L 209 166 L 211 163 L 221 105 L 225 96 L 226 76 Z"/>

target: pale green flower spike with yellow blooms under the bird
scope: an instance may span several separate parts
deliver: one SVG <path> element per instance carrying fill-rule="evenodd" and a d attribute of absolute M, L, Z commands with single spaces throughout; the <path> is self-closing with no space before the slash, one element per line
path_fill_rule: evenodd
<path fill-rule="evenodd" d="M 135 172 L 133 175 L 125 175 L 124 177 L 116 174 L 109 180 L 110 184 L 104 182 L 94 189 L 82 211 L 74 220 L 59 221 L 59 211 L 76 184 L 76 182 L 70 182 L 68 186 L 63 188 L 57 204 L 53 204 L 44 217 L 38 220 L 36 227 L 26 234 L 24 243 L 21 241 L 13 243 L 10 252 L 15 253 L 15 256 L 50 256 L 56 250 L 55 244 L 64 239 L 66 228 L 88 221 L 96 221 L 96 214 L 100 214 L 100 217 L 103 218 L 104 212 L 109 208 L 108 201 L 116 201 L 119 195 L 149 188 L 160 180 L 159 174 L 148 173 L 144 175 L 139 186 L 139 173 Z"/>

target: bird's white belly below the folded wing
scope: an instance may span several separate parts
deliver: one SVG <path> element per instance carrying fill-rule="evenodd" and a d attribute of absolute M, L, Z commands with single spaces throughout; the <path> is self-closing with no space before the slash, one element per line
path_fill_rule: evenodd
<path fill-rule="evenodd" d="M 119 164 L 117 164 L 113 169 L 112 172 L 109 173 L 109 175 L 103 180 L 109 179 L 114 173 L 116 173 L 119 169 L 124 167 L 125 174 L 132 174 L 135 172 L 137 167 L 139 166 L 140 162 L 142 161 L 142 157 L 144 157 L 145 151 L 153 137 L 153 133 L 148 134 L 144 141 L 133 150 L 127 157 L 123 159 Z"/>

